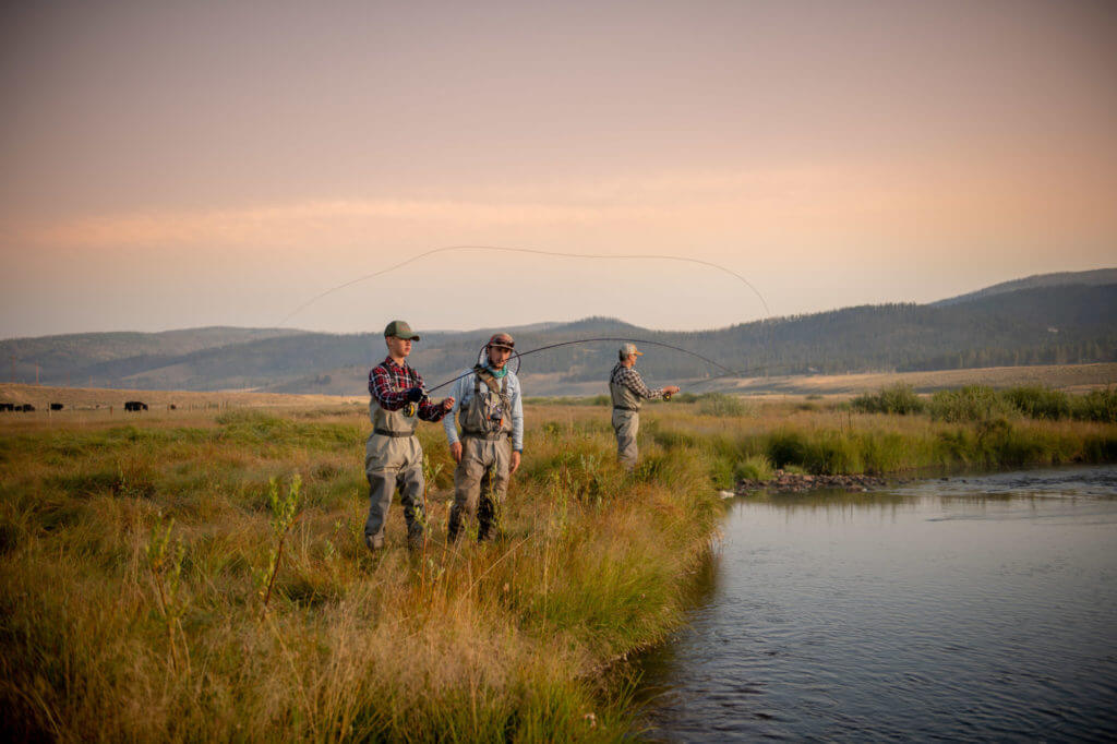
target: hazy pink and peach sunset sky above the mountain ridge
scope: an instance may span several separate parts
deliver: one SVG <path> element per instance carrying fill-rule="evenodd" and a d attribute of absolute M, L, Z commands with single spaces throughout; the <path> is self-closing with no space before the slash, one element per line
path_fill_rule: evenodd
<path fill-rule="evenodd" d="M 0 337 L 274 326 L 420 252 L 775 315 L 1117 265 L 1117 3 L 6 2 Z M 460 251 L 288 325 L 764 316 Z"/>

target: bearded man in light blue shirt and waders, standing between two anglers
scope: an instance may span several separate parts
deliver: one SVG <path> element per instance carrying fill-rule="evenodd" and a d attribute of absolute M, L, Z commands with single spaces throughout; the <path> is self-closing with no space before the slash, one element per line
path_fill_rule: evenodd
<path fill-rule="evenodd" d="M 454 506 L 450 507 L 449 542 L 458 538 L 464 519 L 477 515 L 477 540 L 491 537 L 497 527 L 497 506 L 508 490 L 508 477 L 519 468 L 524 451 L 524 406 L 519 380 L 508 369 L 516 342 L 496 333 L 485 346 L 485 364 L 455 383 L 455 401 L 442 419 L 454 471 Z M 460 418 L 461 439 L 455 426 Z M 510 441 L 509 441 L 510 439 Z M 488 487 L 481 479 L 490 474 Z"/>

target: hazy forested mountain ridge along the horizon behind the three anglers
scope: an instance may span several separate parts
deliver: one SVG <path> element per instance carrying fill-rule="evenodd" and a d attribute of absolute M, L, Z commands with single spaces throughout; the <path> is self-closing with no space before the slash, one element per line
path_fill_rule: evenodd
<path fill-rule="evenodd" d="M 1066 283 L 1080 275 L 1087 280 Z M 640 369 L 660 384 L 693 384 L 723 371 L 657 343 L 689 350 L 742 376 L 1113 362 L 1117 282 L 1099 284 L 1109 275 L 1117 277 L 1117 269 L 1028 277 L 930 305 L 863 305 L 709 331 L 650 331 L 608 317 L 503 330 L 524 352 L 588 337 L 648 342 Z M 475 363 L 495 330 L 423 332 L 412 362 L 435 385 Z M 579 343 L 532 353 L 521 360 L 522 376 L 531 380 L 532 394 L 581 392 L 608 375 L 618 345 Z M 384 354 L 379 331 L 216 327 L 0 342 L 0 364 L 15 357 L 20 382 L 34 382 L 38 365 L 44 384 L 92 381 L 93 387 L 147 390 L 359 394 L 369 368 Z M 11 368 L 3 372 L 11 376 Z"/>

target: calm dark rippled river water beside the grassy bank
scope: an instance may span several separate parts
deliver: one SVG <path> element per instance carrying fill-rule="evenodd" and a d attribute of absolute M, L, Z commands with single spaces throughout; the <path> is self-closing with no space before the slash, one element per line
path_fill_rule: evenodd
<path fill-rule="evenodd" d="M 1117 468 L 737 499 L 653 738 L 1114 740 Z"/>

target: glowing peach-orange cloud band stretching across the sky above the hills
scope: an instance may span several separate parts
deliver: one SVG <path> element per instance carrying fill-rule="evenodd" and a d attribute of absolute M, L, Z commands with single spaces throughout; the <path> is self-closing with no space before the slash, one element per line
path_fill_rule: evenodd
<path fill-rule="evenodd" d="M 519 237 L 601 233 L 889 236 L 919 226 L 961 239 L 1046 230 L 1113 232 L 1105 183 L 972 163 L 905 168 L 849 163 L 770 171 L 662 173 L 459 194 L 334 199 L 219 210 L 71 216 L 9 226 L 9 242 L 59 248 L 309 247 L 378 231 L 446 239 L 487 230 Z"/>

